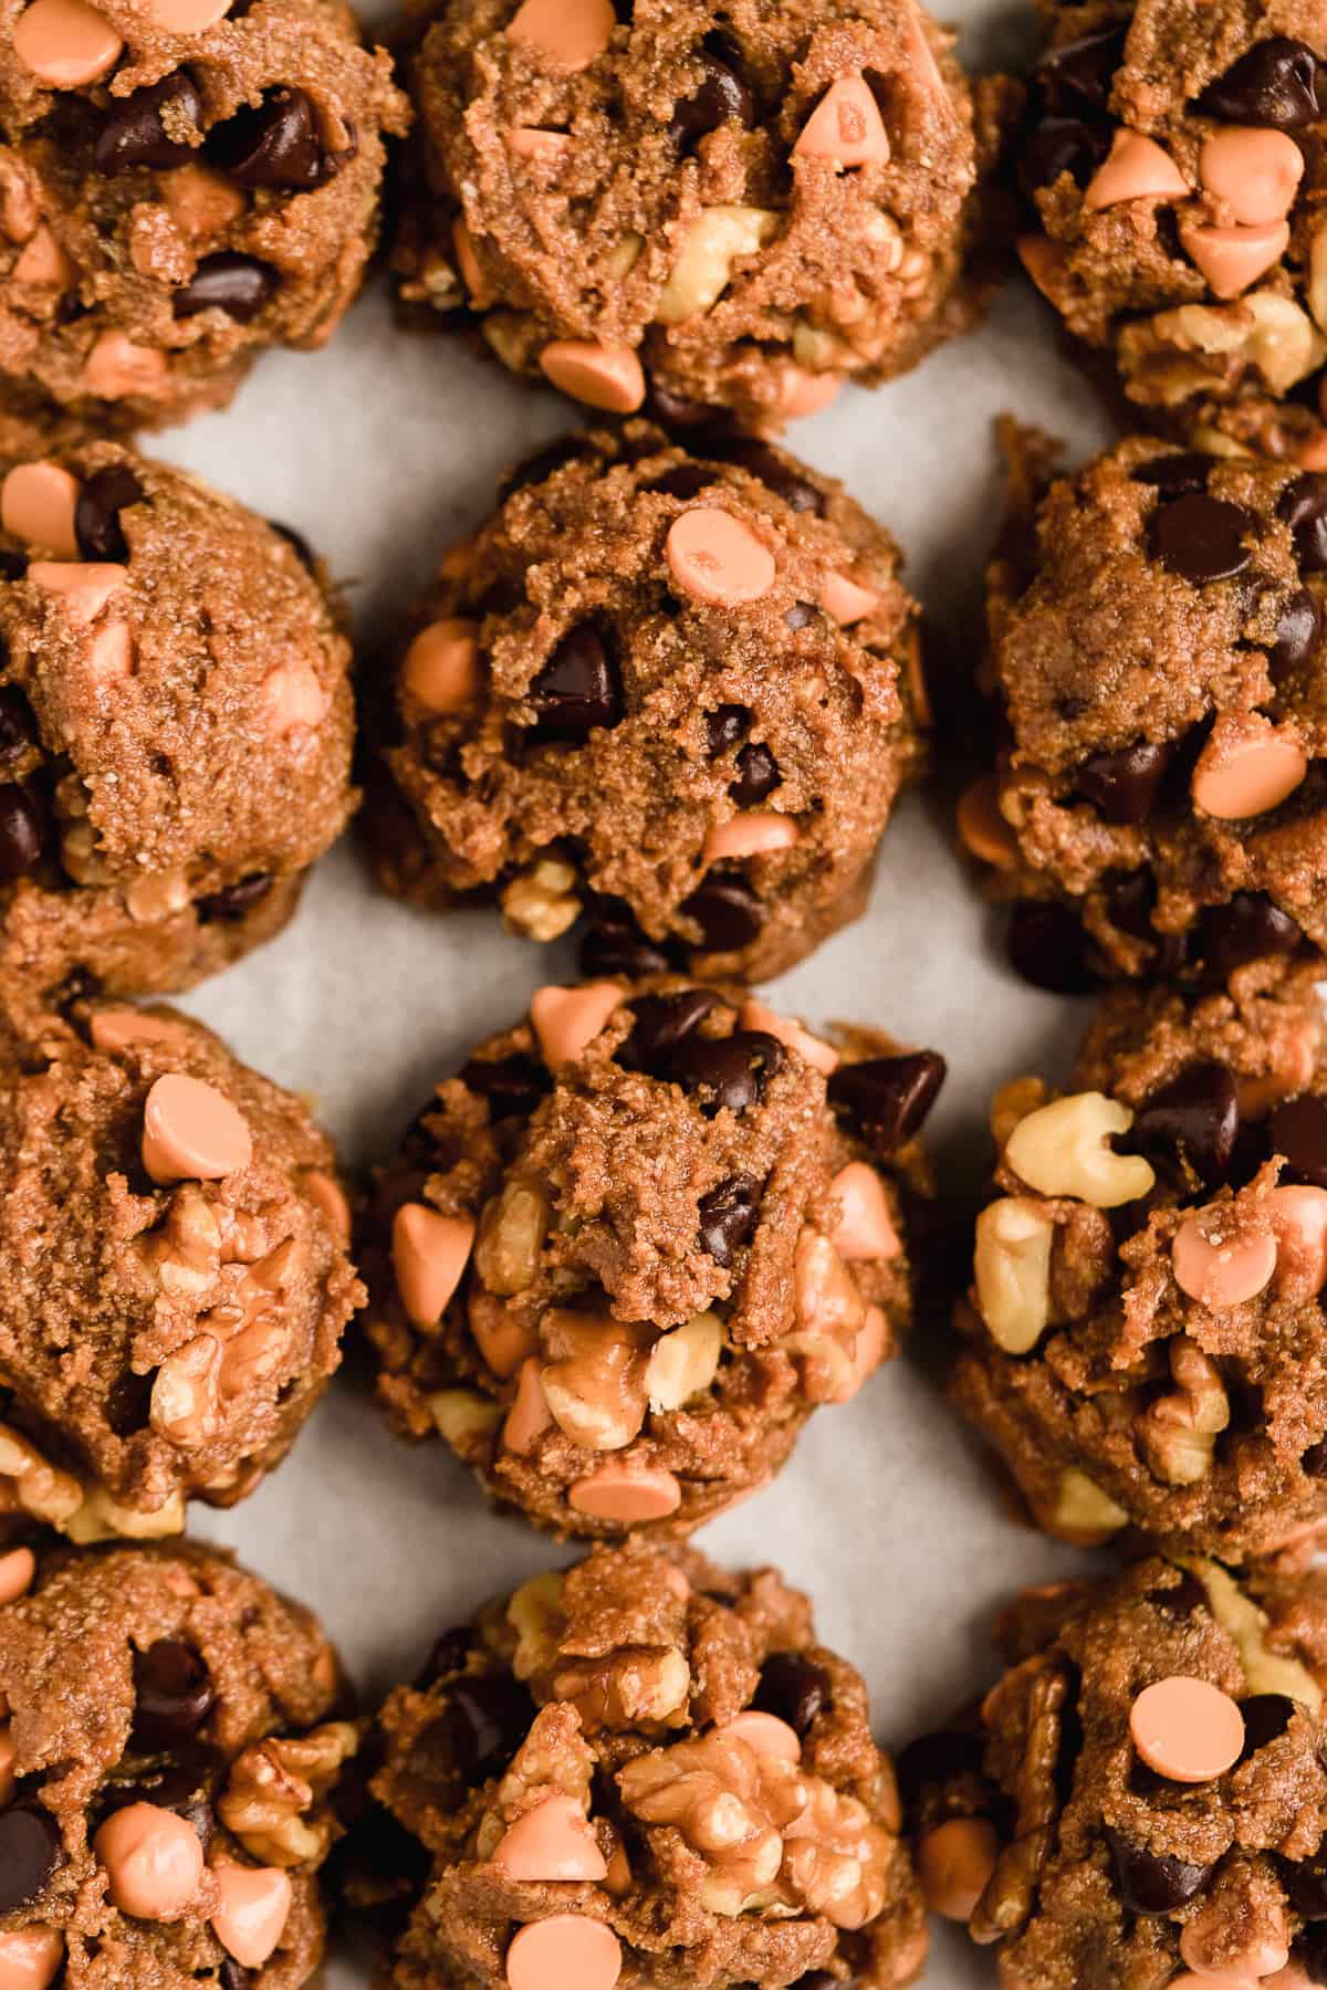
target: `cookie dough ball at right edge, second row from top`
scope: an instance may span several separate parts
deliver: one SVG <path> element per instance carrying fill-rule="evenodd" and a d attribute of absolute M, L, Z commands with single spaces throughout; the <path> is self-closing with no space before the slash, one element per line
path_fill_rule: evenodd
<path fill-rule="evenodd" d="M 1142 438 L 1031 490 L 989 585 L 1007 726 L 959 828 L 1062 991 L 1327 945 L 1327 476 Z M 1021 499 L 1019 499 L 1021 501 Z"/>

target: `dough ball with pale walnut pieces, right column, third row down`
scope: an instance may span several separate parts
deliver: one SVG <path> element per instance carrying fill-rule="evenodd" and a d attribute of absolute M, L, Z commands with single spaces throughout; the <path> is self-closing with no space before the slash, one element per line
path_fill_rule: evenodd
<path fill-rule="evenodd" d="M 1132 1524 L 1226 1560 L 1311 1544 L 1327 1522 L 1327 1260 L 1313 1230 L 1327 1206 L 1327 1049 L 1315 991 L 1118 989 L 1068 1085 L 1066 1096 L 1084 1094 L 1124 1108 L 1106 1146 L 1144 1156 L 1152 1188 L 1102 1208 L 1062 1152 L 1043 1172 L 1025 1134 L 1013 1152 L 1039 1174 L 1033 1186 L 1009 1140 L 1052 1094 L 1037 1079 L 997 1094 L 995 1182 L 1013 1200 L 979 1224 L 955 1403 L 1039 1522 L 1068 1540 Z M 1041 1319 L 1021 1335 L 1001 1307 L 1001 1212 L 1029 1218 L 1025 1250 L 1031 1234 L 1048 1244 Z M 1186 1270 L 1176 1240 L 1192 1238 L 1194 1218 L 1218 1252 L 1251 1262 L 1247 1295 L 1212 1294 Z"/>

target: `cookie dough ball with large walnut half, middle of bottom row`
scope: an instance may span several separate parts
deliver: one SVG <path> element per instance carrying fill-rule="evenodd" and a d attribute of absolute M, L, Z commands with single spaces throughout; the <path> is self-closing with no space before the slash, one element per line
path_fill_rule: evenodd
<path fill-rule="evenodd" d="M 380 1745 L 374 1795 L 430 1861 L 396 1990 L 885 1990 L 921 1968 L 865 1686 L 770 1568 L 599 1546 L 448 1632 Z"/>

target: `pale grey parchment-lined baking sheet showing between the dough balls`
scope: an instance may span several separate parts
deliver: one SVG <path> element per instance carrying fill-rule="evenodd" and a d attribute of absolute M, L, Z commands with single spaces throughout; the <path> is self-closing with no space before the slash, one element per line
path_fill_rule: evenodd
<path fill-rule="evenodd" d="M 1013 60 L 1027 36 L 1021 14 L 981 0 L 961 26 L 973 68 Z M 1106 440 L 1025 285 L 979 334 L 875 394 L 846 390 L 792 434 L 891 527 L 911 587 L 969 649 L 999 519 L 1003 410 L 1076 452 Z M 348 583 L 372 659 L 440 551 L 489 509 L 497 472 L 567 426 L 565 404 L 464 340 L 398 332 L 378 281 L 326 352 L 267 358 L 229 412 L 153 446 L 298 525 Z M 770 991 L 812 1023 L 879 1023 L 947 1055 L 929 1134 L 959 1190 L 989 1158 L 995 1085 L 1062 1071 L 1086 1013 L 1017 983 L 993 927 L 951 850 L 945 798 L 911 796 L 885 836 L 867 917 Z M 491 913 L 438 919 L 388 901 L 350 842 L 318 868 L 290 931 L 187 1007 L 249 1063 L 314 1094 L 346 1162 L 364 1166 L 392 1150 L 479 1035 L 515 1017 L 541 981 L 571 975 L 565 943 L 509 939 Z M 786 1574 L 816 1596 L 824 1640 L 865 1674 L 877 1735 L 891 1745 L 991 1678 L 987 1628 L 1003 1598 L 1080 1560 L 1017 1526 L 993 1496 L 985 1461 L 939 1401 L 945 1341 L 945 1319 L 921 1317 L 909 1351 L 853 1405 L 812 1421 L 774 1487 L 698 1536 L 732 1564 L 778 1548 Z M 366 1697 L 414 1674 L 434 1636 L 485 1594 L 569 1558 L 491 1514 L 442 1441 L 390 1439 L 352 1377 L 253 1498 L 227 1514 L 201 1508 L 197 1528 L 310 1602 Z M 989 1952 L 937 1926 L 925 1980 L 959 1990 L 991 1984 L 995 1970 Z M 364 1982 L 362 1956 L 338 1956 L 334 1990 Z"/>

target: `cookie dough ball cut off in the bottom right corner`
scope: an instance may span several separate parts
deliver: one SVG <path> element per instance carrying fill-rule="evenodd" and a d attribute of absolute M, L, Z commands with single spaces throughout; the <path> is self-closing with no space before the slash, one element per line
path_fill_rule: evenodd
<path fill-rule="evenodd" d="M 1327 1578 L 1154 1556 L 1027 1590 L 997 1646 L 899 1789 L 927 1904 L 999 1944 L 1001 1984 L 1325 1982 Z"/>

